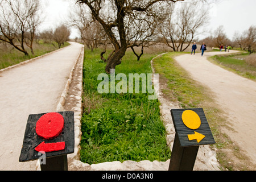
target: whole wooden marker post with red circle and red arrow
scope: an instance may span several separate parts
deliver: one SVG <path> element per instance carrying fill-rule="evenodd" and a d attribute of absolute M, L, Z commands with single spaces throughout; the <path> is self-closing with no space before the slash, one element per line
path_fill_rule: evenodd
<path fill-rule="evenodd" d="M 30 114 L 19 162 L 40 159 L 42 171 L 67 171 L 75 148 L 74 112 Z"/>

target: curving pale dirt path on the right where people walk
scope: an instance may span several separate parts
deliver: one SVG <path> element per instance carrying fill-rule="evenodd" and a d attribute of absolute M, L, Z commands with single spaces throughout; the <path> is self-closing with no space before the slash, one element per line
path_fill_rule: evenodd
<path fill-rule="evenodd" d="M 176 61 L 194 80 L 212 90 L 214 99 L 225 111 L 226 119 L 233 129 L 223 129 L 224 133 L 256 164 L 256 82 L 207 61 L 208 56 L 225 53 L 227 52 L 205 52 L 204 56 L 200 53 L 181 55 L 176 57 Z"/>

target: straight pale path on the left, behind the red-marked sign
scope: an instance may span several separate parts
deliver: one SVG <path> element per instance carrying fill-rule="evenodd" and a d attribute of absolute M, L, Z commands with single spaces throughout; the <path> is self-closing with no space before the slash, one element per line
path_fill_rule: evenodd
<path fill-rule="evenodd" d="M 81 47 L 71 42 L 30 63 L 0 71 L 0 170 L 36 169 L 36 160 L 19 162 L 28 115 L 56 111 Z"/>

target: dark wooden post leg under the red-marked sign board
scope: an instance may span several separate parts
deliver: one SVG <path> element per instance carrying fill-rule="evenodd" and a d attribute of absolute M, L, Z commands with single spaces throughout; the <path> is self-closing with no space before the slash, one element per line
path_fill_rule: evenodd
<path fill-rule="evenodd" d="M 46 158 L 45 164 L 40 164 L 41 171 L 68 171 L 68 156 L 60 155 Z"/>

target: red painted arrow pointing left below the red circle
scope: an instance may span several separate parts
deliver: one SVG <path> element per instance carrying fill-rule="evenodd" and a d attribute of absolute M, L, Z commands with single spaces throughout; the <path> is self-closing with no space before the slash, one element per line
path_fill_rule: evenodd
<path fill-rule="evenodd" d="M 35 150 L 40 152 L 52 152 L 52 151 L 59 151 L 65 149 L 65 142 L 56 142 L 56 143 L 40 143 Z"/>

